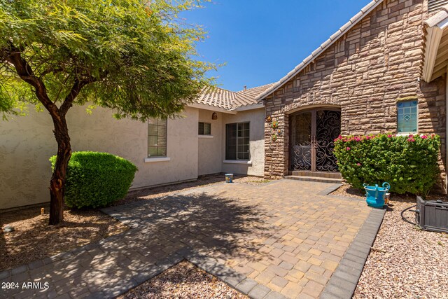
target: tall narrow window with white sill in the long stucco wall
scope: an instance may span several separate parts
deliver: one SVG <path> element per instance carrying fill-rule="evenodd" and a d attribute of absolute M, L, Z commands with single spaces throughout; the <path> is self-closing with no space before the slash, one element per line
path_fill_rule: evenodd
<path fill-rule="evenodd" d="M 167 156 L 167 120 L 148 120 L 148 157 Z"/>

